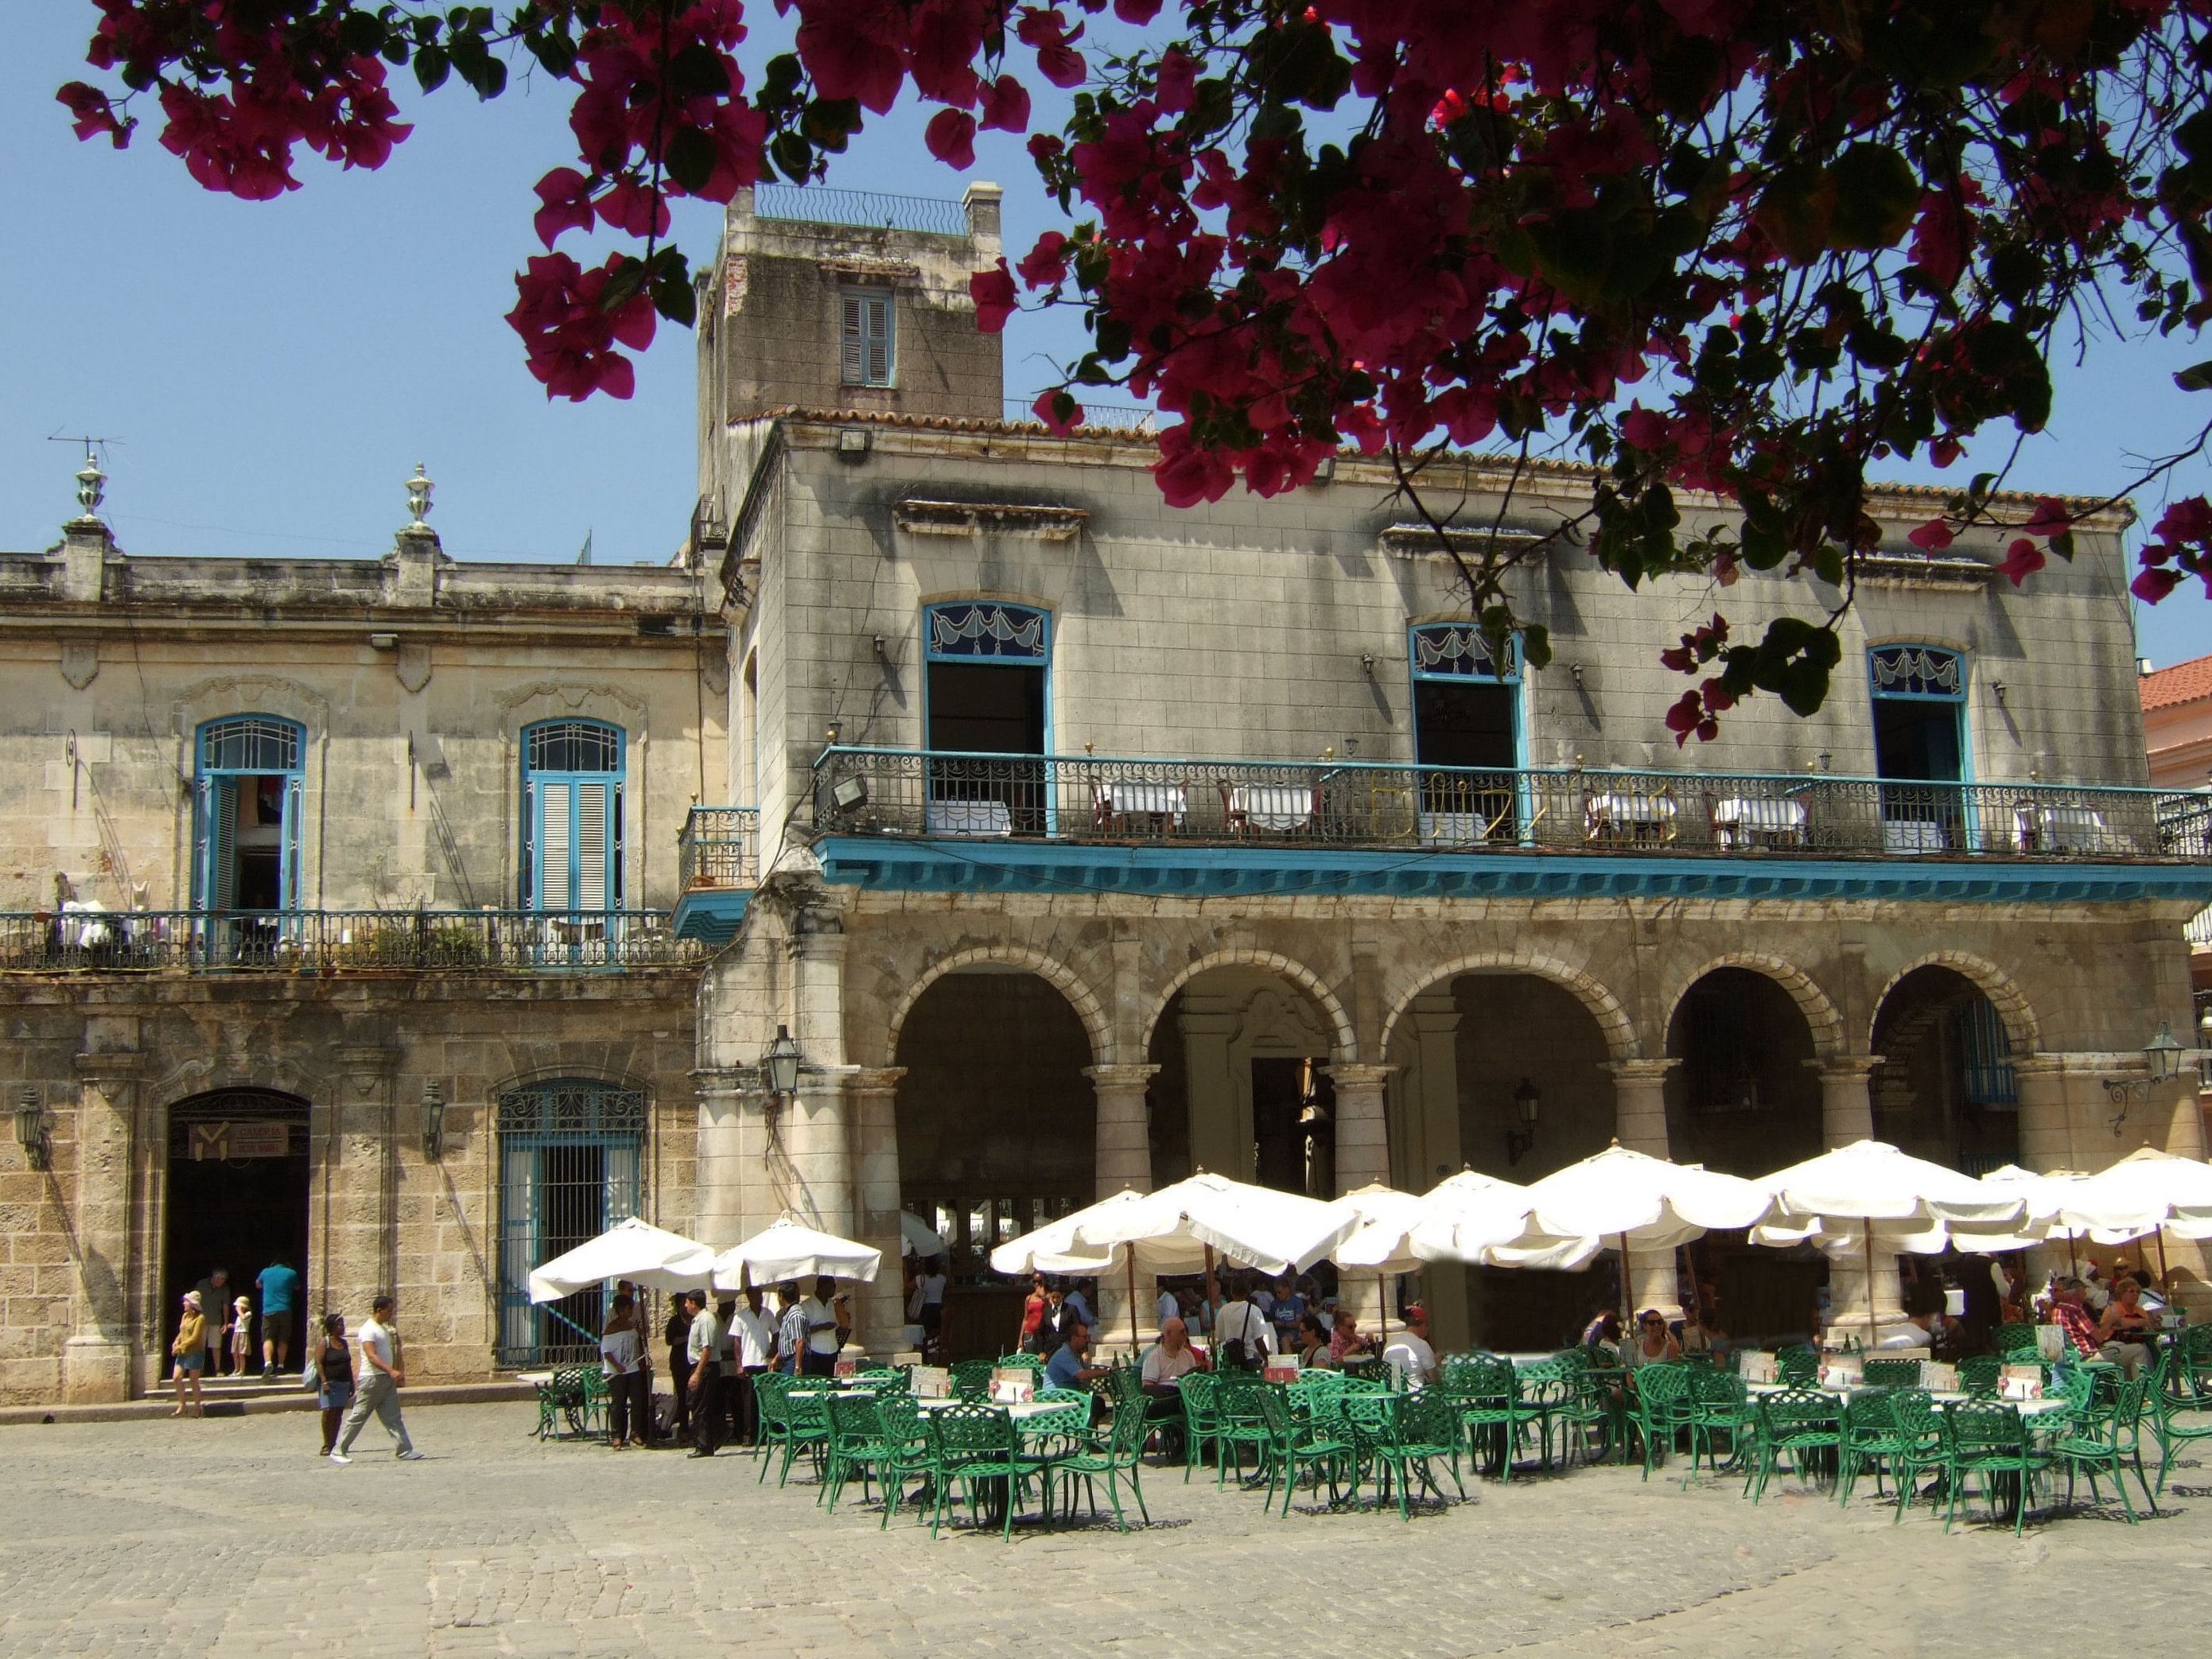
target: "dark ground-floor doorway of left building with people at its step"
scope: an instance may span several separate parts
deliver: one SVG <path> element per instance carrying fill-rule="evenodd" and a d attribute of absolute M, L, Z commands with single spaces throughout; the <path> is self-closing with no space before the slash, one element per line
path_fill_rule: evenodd
<path fill-rule="evenodd" d="M 230 1270 L 230 1296 L 250 1296 L 250 1354 L 259 1369 L 261 1294 L 254 1276 L 272 1261 L 299 1270 L 290 1363 L 305 1345 L 314 1307 L 307 1283 L 307 1102 L 272 1088 L 223 1088 L 168 1108 L 168 1201 L 161 1206 L 161 1336 L 177 1305 L 215 1267 Z M 219 1310 L 204 1310 L 210 1321 Z"/>

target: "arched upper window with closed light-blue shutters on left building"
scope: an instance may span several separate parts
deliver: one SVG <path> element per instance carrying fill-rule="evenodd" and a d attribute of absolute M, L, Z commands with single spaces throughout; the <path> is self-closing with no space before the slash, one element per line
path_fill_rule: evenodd
<path fill-rule="evenodd" d="M 619 726 L 522 730 L 522 909 L 622 909 L 622 783 Z"/>

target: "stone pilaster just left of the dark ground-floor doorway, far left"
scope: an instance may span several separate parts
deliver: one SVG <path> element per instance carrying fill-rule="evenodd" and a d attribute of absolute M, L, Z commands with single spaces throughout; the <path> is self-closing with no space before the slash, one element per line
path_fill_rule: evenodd
<path fill-rule="evenodd" d="M 62 1400 L 108 1405 L 135 1394 L 131 1192 L 139 1053 L 77 1055 L 75 1307 L 62 1347 Z M 166 1318 L 166 1310 L 157 1310 Z M 157 1318 L 157 1325 L 159 1325 Z"/>

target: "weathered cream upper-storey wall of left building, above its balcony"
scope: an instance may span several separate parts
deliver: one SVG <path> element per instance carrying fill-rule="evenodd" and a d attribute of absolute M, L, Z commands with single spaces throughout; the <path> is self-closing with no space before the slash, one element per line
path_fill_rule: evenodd
<path fill-rule="evenodd" d="M 668 907 L 684 814 L 728 776 L 699 591 L 688 571 L 460 566 L 422 538 L 383 564 L 108 553 L 84 599 L 0 586 L 0 911 L 51 909 L 55 876 L 111 909 L 190 905 L 195 732 L 226 714 L 305 728 L 305 909 L 518 902 L 522 728 L 611 721 L 624 902 Z"/>

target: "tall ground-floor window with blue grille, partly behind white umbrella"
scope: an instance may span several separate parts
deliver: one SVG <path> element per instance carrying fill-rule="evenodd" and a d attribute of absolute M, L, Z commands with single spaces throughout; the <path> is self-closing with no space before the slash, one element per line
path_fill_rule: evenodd
<path fill-rule="evenodd" d="M 531 1267 L 639 1212 L 646 1144 L 641 1088 L 553 1077 L 498 1099 L 500 1365 L 599 1352 L 604 1287 L 531 1303 Z"/>

